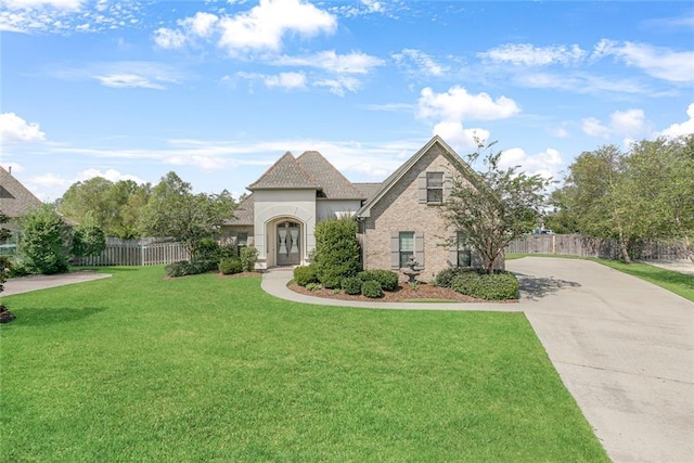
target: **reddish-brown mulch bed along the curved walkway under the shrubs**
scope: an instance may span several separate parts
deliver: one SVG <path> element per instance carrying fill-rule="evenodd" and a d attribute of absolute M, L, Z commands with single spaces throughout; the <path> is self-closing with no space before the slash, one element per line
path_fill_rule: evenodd
<path fill-rule="evenodd" d="M 448 287 L 435 286 L 421 282 L 416 290 L 407 283 L 400 283 L 398 288 L 393 292 L 385 291 L 383 297 L 373 299 L 367 296 L 357 295 L 350 296 L 344 292 L 335 293 L 333 290 L 316 290 L 309 291 L 304 286 L 299 286 L 296 283 L 287 286 L 290 290 L 313 297 L 324 297 L 326 299 L 340 299 L 340 300 L 362 300 L 369 303 L 416 303 L 419 301 L 451 301 L 451 303 L 487 303 L 484 299 L 477 299 L 474 297 L 465 296 L 450 290 Z M 515 300 L 513 300 L 515 303 Z"/>

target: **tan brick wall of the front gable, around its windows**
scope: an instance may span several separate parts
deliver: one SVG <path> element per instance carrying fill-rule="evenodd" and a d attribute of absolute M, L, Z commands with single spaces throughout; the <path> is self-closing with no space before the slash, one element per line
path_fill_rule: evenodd
<path fill-rule="evenodd" d="M 426 171 L 457 173 L 441 147 L 434 145 L 372 206 L 362 229 L 364 268 L 390 269 L 390 235 L 401 231 L 424 232 L 424 270 L 420 280 L 430 281 L 449 267 L 450 248 L 445 241 L 454 232 L 446 227 L 440 206 L 419 202 L 417 177 Z"/>

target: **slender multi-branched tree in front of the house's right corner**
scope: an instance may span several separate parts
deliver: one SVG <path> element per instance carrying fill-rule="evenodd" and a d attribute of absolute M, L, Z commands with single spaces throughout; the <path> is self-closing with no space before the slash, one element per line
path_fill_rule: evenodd
<path fill-rule="evenodd" d="M 483 157 L 485 170 L 471 179 L 455 178 L 441 211 L 448 223 L 462 232 L 467 244 L 483 259 L 488 273 L 514 239 L 532 230 L 545 205 L 545 189 L 551 181 L 539 175 L 528 176 L 517 167 L 502 169 L 501 152 L 496 142 L 478 145 L 467 156 L 470 165 Z"/>

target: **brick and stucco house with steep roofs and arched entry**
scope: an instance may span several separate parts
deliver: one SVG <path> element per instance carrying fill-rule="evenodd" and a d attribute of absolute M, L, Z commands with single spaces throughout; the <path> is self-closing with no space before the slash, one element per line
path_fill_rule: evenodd
<path fill-rule="evenodd" d="M 316 223 L 351 216 L 365 269 L 398 270 L 414 258 L 422 280 L 430 280 L 450 266 L 481 265 L 440 213 L 453 178 L 475 176 L 438 136 L 382 183 L 352 183 L 316 151 L 286 153 L 247 187 L 250 194 L 222 235 L 255 245 L 259 269 L 306 265 Z"/>

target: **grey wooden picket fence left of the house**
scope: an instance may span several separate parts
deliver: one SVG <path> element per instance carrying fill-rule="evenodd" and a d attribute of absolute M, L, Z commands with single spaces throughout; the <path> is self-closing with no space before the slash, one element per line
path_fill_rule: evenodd
<path fill-rule="evenodd" d="M 181 243 L 155 243 L 152 239 L 108 239 L 106 249 L 99 256 L 79 257 L 76 266 L 157 266 L 190 259 Z"/>

